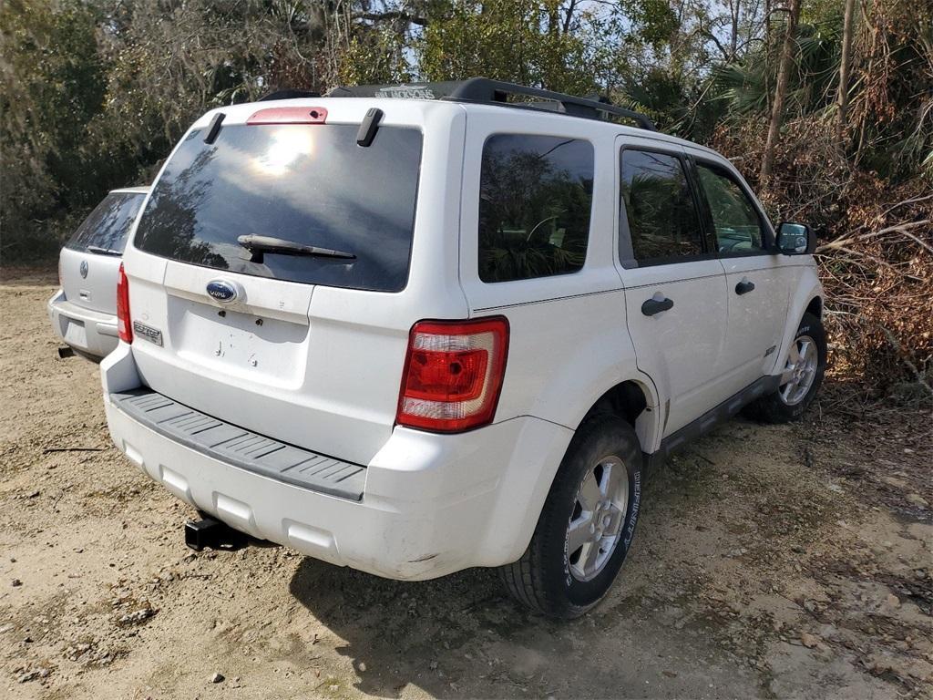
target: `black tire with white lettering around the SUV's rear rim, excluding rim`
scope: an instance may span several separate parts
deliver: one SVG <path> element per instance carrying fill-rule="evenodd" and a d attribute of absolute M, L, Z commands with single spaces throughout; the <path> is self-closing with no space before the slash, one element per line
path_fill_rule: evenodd
<path fill-rule="evenodd" d="M 615 549 L 598 574 L 592 580 L 580 581 L 571 573 L 574 553 L 565 551 L 567 530 L 579 512 L 578 491 L 584 477 L 611 457 L 621 461 L 614 469 L 623 467 L 628 483 L 626 508 L 620 516 L 622 526 Z M 621 472 L 617 478 L 621 478 Z M 509 594 L 522 605 L 557 618 L 576 618 L 592 609 L 615 581 L 629 551 L 638 522 L 642 483 L 641 447 L 632 427 L 615 415 L 587 420 L 567 448 L 528 549 L 517 562 L 499 569 Z"/>

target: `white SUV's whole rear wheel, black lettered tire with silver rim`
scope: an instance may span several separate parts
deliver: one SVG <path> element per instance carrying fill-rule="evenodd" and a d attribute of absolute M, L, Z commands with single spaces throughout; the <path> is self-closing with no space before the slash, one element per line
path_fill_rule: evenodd
<path fill-rule="evenodd" d="M 509 593 L 545 614 L 574 618 L 615 581 L 634 536 L 642 455 L 634 430 L 613 415 L 579 428 L 522 558 L 500 571 Z"/>

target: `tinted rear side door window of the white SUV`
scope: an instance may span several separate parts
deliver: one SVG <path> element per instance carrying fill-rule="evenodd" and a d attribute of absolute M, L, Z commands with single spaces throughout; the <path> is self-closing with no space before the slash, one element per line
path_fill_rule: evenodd
<path fill-rule="evenodd" d="M 636 260 L 703 253 L 700 220 L 676 156 L 624 149 L 620 199 Z"/>

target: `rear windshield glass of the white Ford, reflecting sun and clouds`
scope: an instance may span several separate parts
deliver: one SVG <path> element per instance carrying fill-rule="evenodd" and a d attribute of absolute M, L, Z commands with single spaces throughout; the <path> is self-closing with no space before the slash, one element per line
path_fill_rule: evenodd
<path fill-rule="evenodd" d="M 408 280 L 422 134 L 355 124 L 224 126 L 188 133 L 153 189 L 133 245 L 195 265 L 329 287 L 398 291 Z M 251 255 L 240 236 L 355 258 Z"/>

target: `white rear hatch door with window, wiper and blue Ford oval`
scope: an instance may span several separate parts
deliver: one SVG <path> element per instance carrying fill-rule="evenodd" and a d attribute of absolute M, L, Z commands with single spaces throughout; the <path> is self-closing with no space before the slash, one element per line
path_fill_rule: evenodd
<path fill-rule="evenodd" d="M 336 102 L 238 105 L 215 138 L 210 119 L 185 136 L 126 256 L 133 355 L 179 403 L 367 464 L 394 426 L 411 324 L 442 307 L 412 304 L 416 209 L 455 213 L 459 189 L 443 201 L 446 161 L 426 179 L 423 108 L 386 110 L 362 147 L 370 101 Z"/>

